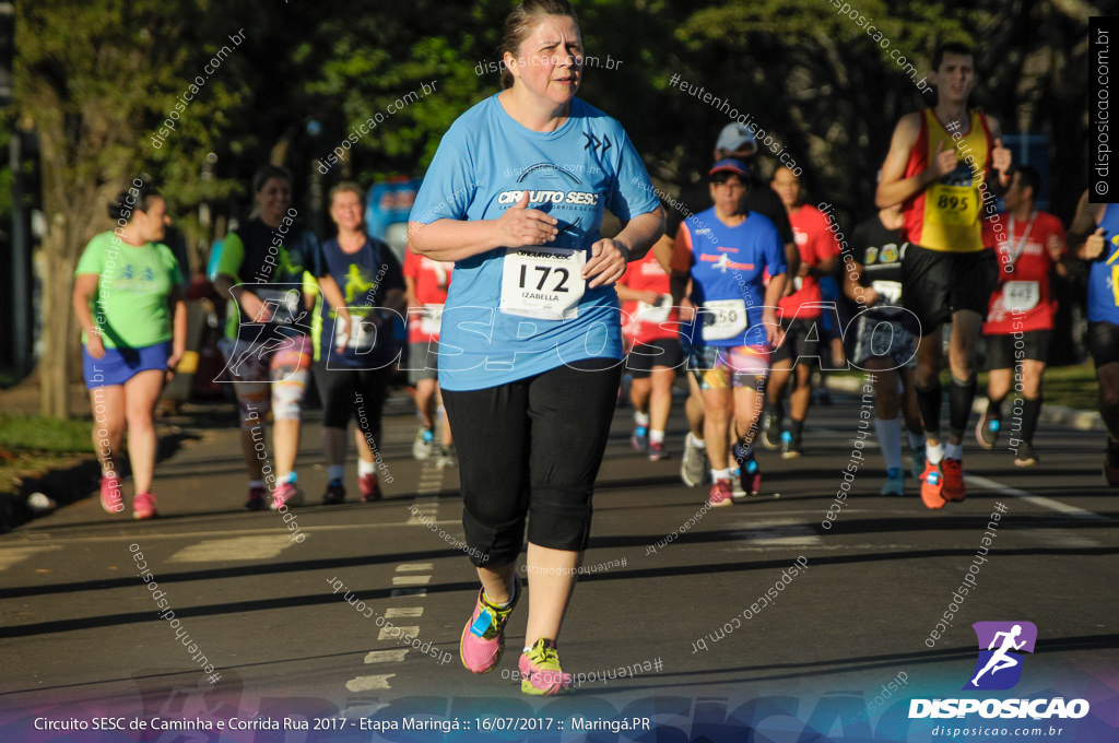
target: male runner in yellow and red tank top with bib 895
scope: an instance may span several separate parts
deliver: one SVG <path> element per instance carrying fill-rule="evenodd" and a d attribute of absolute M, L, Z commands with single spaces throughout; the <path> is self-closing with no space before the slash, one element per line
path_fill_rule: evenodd
<path fill-rule="evenodd" d="M 998 281 L 994 246 L 1005 239 L 997 192 L 1009 184 L 1010 152 L 998 122 L 970 111 L 975 57 L 943 44 L 932 59 L 935 107 L 902 116 L 894 128 L 875 195 L 878 208 L 901 204 L 902 298 L 921 323 L 916 393 L 925 431 L 921 499 L 929 508 L 963 500 L 963 431 L 976 394 L 975 350 Z M 940 438 L 941 328 L 951 322 L 949 435 Z"/>

